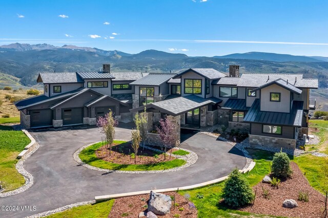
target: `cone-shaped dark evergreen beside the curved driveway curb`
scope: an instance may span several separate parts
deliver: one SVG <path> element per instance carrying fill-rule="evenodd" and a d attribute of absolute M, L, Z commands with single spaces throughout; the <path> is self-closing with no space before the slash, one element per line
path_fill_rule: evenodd
<path fill-rule="evenodd" d="M 253 189 L 237 168 L 229 175 L 224 184 L 222 197 L 224 203 L 231 207 L 247 205 L 253 200 Z"/>

